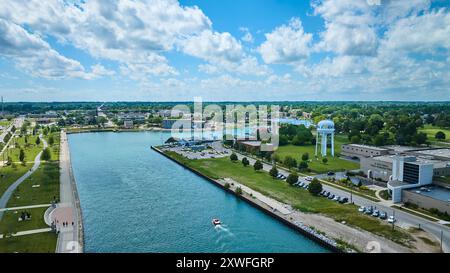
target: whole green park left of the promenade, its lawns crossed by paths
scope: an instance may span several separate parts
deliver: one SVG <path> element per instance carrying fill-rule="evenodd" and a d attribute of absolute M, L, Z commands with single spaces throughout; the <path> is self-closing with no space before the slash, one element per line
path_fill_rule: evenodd
<path fill-rule="evenodd" d="M 44 138 L 50 150 L 50 160 L 41 162 L 39 168 L 28 177 L 13 193 L 7 207 L 30 206 L 49 204 L 55 198 L 59 199 L 59 141 L 58 132 L 39 129 L 35 135 L 24 134 L 14 138 L 11 148 L 5 153 L 10 157 L 12 164 L 0 168 L 0 195 L 25 174 L 33 165 L 35 157 L 43 149 L 43 141 L 36 144 L 39 133 Z M 24 151 L 24 162 L 20 163 L 20 150 Z M 27 210 L 32 215 L 30 221 L 18 221 L 21 211 L 5 212 L 0 221 L 0 234 L 10 232 L 48 228 L 44 223 L 43 215 L 47 208 Z M 54 233 L 39 233 L 11 238 L 0 239 L 0 252 L 55 252 L 57 236 Z"/>

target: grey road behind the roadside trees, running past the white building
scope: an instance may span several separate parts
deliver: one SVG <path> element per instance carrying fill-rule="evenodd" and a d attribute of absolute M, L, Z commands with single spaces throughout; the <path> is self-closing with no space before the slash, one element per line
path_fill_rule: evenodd
<path fill-rule="evenodd" d="M 236 153 L 239 160 L 242 160 L 243 157 L 245 157 L 242 154 Z M 248 158 L 248 157 L 247 157 Z M 253 165 L 256 160 L 253 158 L 248 158 L 250 161 L 250 164 Z M 263 163 L 263 169 L 265 171 L 269 171 L 272 168 L 272 165 Z M 285 175 L 286 177 L 289 175 L 289 172 L 283 169 L 278 169 L 279 173 Z M 300 181 L 308 184 L 309 182 L 305 180 L 305 177 L 300 177 Z M 338 195 L 341 197 L 347 197 L 349 200 L 352 199 L 353 203 L 357 206 L 372 206 L 378 210 L 386 211 L 389 215 L 395 215 L 395 218 L 397 219 L 396 225 L 398 226 L 412 226 L 412 227 L 419 227 L 423 230 L 429 232 L 430 234 L 434 235 L 438 241 L 441 239 L 441 232 L 442 232 L 442 248 L 444 252 L 448 253 L 450 252 L 450 227 L 444 226 L 442 224 L 439 224 L 437 222 L 432 222 L 430 220 L 412 215 L 407 212 L 403 212 L 401 210 L 391 208 L 387 205 L 384 205 L 379 202 L 374 202 L 371 200 L 368 200 L 364 197 L 358 196 L 358 195 L 352 195 L 344 190 L 340 190 L 338 188 L 322 184 L 322 187 L 324 190 L 331 192 L 334 195 Z"/>

